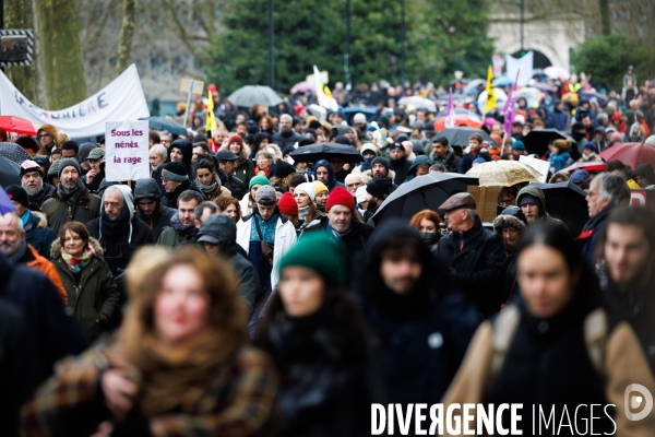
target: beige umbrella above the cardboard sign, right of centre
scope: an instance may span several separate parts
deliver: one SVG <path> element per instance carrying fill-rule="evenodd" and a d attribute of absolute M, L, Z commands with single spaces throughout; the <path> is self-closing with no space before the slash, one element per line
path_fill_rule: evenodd
<path fill-rule="evenodd" d="M 478 178 L 480 187 L 511 187 L 536 182 L 541 174 L 519 161 L 491 161 L 472 167 L 466 176 Z"/>

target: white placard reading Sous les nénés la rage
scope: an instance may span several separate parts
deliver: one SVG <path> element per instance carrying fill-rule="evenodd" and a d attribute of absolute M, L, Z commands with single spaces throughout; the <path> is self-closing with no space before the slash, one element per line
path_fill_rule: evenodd
<path fill-rule="evenodd" d="M 138 180 L 150 177 L 147 121 L 107 121 L 105 179 Z"/>

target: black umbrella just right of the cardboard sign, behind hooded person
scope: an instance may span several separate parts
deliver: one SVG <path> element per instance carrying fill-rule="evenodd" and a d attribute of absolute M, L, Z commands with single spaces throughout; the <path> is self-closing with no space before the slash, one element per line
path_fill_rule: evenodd
<path fill-rule="evenodd" d="M 570 181 L 559 184 L 531 184 L 544 190 L 546 211 L 569 227 L 571 235 L 577 237 L 590 220 L 586 192 Z"/>

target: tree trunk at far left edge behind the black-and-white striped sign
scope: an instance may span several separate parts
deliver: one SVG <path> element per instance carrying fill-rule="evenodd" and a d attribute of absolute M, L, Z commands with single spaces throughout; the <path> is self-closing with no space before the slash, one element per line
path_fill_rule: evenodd
<path fill-rule="evenodd" d="M 12 29 L 34 29 L 34 8 L 29 0 L 4 0 L 4 27 Z M 36 32 L 35 32 L 36 34 Z M 37 98 L 37 59 L 33 52 L 29 67 L 7 67 L 4 74 L 28 101 Z"/>

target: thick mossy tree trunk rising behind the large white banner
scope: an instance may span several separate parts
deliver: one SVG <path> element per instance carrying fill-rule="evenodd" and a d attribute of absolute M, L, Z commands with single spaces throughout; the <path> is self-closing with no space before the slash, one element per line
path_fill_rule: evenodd
<path fill-rule="evenodd" d="M 48 109 L 86 97 L 80 20 L 75 0 L 36 0 Z"/>

